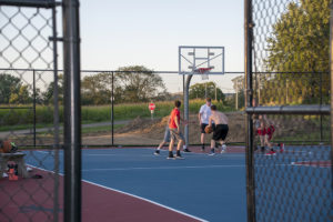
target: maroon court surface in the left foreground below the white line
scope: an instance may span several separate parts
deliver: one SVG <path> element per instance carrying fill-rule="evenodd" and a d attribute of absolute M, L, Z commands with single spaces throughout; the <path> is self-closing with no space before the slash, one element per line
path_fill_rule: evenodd
<path fill-rule="evenodd" d="M 0 221 L 53 221 L 53 174 L 33 170 L 42 179 L 0 179 Z M 59 221 L 63 221 L 63 181 L 60 176 Z M 82 221 L 200 221 L 159 204 L 82 182 Z"/>

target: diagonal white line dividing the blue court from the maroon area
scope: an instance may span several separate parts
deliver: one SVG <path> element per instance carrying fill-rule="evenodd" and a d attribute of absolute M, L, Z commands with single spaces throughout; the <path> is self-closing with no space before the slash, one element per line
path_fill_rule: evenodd
<path fill-rule="evenodd" d="M 46 172 L 54 173 L 53 171 L 46 170 L 46 169 L 41 169 L 41 168 L 34 167 L 34 165 L 31 165 L 31 164 L 27 164 L 27 165 L 30 165 L 31 168 L 36 168 L 36 169 L 39 169 L 39 170 L 42 170 L 42 171 L 46 171 Z M 59 173 L 59 174 L 63 176 L 62 173 Z M 185 216 L 195 219 L 195 220 L 198 220 L 198 221 L 209 222 L 209 221 L 203 220 L 203 219 L 201 219 L 201 218 L 198 218 L 198 216 L 195 216 L 195 215 L 191 215 L 191 214 L 189 214 L 189 213 L 185 213 L 185 212 L 175 210 L 175 209 L 173 209 L 173 208 L 170 208 L 170 206 L 168 206 L 168 205 L 163 205 L 163 204 L 161 204 L 161 203 L 158 203 L 158 202 L 155 202 L 155 201 L 152 201 L 152 200 L 149 200 L 149 199 L 145 199 L 145 198 L 141 198 L 141 196 L 139 196 L 139 195 L 134 195 L 134 194 L 131 194 L 131 193 L 128 193 L 128 192 L 123 192 L 123 191 L 120 191 L 120 190 L 117 190 L 117 189 L 113 189 L 113 188 L 108 188 L 108 186 L 104 186 L 104 185 L 101 185 L 101 184 L 98 184 L 98 183 L 94 183 L 94 182 L 91 182 L 91 181 L 88 181 L 88 180 L 81 180 L 81 181 L 83 181 L 83 182 L 85 182 L 85 183 L 90 183 L 90 184 L 92 184 L 92 185 L 97 185 L 97 186 L 103 188 L 103 189 L 105 189 L 105 190 L 114 191 L 114 192 L 122 193 L 122 194 L 125 194 L 125 195 L 129 195 L 129 196 L 132 196 L 132 198 L 140 199 L 140 200 L 142 200 L 142 201 L 145 201 L 145 202 L 155 204 L 155 205 L 158 205 L 158 206 L 161 206 L 161 208 L 168 209 L 168 210 L 170 210 L 170 211 L 173 211 L 173 212 L 175 212 L 175 213 L 179 213 L 179 214 L 182 214 L 182 215 L 185 215 Z"/>

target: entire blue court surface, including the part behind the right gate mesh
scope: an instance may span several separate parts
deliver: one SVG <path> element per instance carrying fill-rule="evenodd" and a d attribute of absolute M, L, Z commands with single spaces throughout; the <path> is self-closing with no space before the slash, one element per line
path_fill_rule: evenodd
<path fill-rule="evenodd" d="M 246 221 L 244 153 L 211 157 L 192 152 L 183 153 L 184 160 L 167 160 L 168 151 L 162 150 L 158 157 L 153 151 L 151 148 L 84 149 L 82 180 L 140 196 L 202 221 Z M 255 153 L 259 221 L 266 221 L 265 214 L 285 221 L 287 218 L 283 216 L 294 214 L 291 209 L 295 204 L 302 209 L 297 212 L 302 221 L 309 211 L 312 216 L 305 221 L 313 221 L 312 218 L 325 221 L 325 216 L 332 214 L 330 152 L 329 147 L 290 147 L 271 157 Z M 27 153 L 28 164 L 53 169 L 52 151 Z M 62 151 L 59 159 L 60 173 L 63 173 Z M 275 198 L 268 198 L 271 192 Z M 285 213 L 282 216 L 278 212 Z"/>

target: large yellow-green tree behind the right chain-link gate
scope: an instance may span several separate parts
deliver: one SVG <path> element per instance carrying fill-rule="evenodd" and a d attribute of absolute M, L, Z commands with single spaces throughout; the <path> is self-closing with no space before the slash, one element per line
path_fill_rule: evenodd
<path fill-rule="evenodd" d="M 321 93 L 321 83 L 323 91 L 330 89 L 329 74 L 320 73 L 330 70 L 329 4 L 330 0 L 301 0 L 300 4 L 291 2 L 273 24 L 272 37 L 268 38 L 269 57 L 264 60 L 265 69 L 270 72 L 290 72 L 270 75 L 266 79 L 270 83 L 261 85 L 264 92 L 271 91 L 275 101 L 286 101 L 293 94 L 296 103 L 312 102 Z M 295 75 L 295 72 L 310 73 Z M 295 88 L 281 90 L 276 87 L 285 84 Z M 291 89 L 293 91 L 287 94 Z"/>

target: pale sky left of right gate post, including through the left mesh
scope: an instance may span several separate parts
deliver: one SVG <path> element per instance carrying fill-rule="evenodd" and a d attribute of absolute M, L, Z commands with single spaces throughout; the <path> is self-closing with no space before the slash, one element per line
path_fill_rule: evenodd
<path fill-rule="evenodd" d="M 243 1 L 80 0 L 81 70 L 117 70 L 121 67 L 144 65 L 154 71 L 178 71 L 179 46 L 206 46 L 224 47 L 225 72 L 243 71 Z M 58 34 L 61 37 L 62 17 L 61 9 L 58 9 Z M 33 37 L 37 30 L 31 27 L 44 26 L 46 19 L 40 19 L 40 14 L 37 18 L 32 16 L 37 14 L 36 9 L 24 9 L 22 14 L 18 13 L 16 8 L 2 8 L 0 27 L 3 27 L 3 37 L 0 34 L 0 48 L 12 46 L 8 39 L 16 39 L 17 28 L 24 31 L 23 36 Z M 28 26 L 32 30 L 23 28 L 27 24 L 27 14 L 28 18 L 33 18 L 31 26 Z M 16 20 L 17 27 L 7 26 L 9 18 Z M 50 10 L 46 10 L 44 18 L 51 18 Z M 30 41 L 34 43 L 36 49 L 50 44 L 47 39 L 39 41 L 32 38 Z M 24 50 L 28 43 L 24 38 L 16 39 L 12 47 L 24 51 L 27 58 L 38 57 L 31 47 L 28 47 L 30 50 Z M 62 69 L 60 42 L 58 49 L 59 69 Z M 7 59 L 11 58 L 13 61 L 19 57 L 19 52 L 11 48 L 4 53 Z M 48 56 L 52 60 L 51 51 Z M 22 64 L 19 64 L 20 62 Z M 39 68 L 36 67 L 38 62 L 30 64 Z M 43 62 L 40 63 L 41 69 L 46 69 Z M 8 62 L 0 60 L 0 67 L 6 65 L 9 65 Z M 31 67 L 26 60 L 20 60 L 14 63 L 14 68 Z M 83 73 L 82 78 L 84 75 L 87 73 Z M 181 75 L 163 73 L 161 77 L 169 92 L 182 91 Z M 195 75 L 191 84 L 214 81 L 223 92 L 233 92 L 231 79 L 235 77 L 210 75 L 209 80 L 201 80 Z"/>

